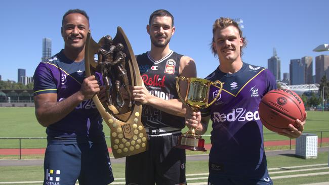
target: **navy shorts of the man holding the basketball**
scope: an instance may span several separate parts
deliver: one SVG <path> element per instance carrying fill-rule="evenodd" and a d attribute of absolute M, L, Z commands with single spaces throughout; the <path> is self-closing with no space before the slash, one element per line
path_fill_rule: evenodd
<path fill-rule="evenodd" d="M 209 173 L 208 177 L 209 185 L 273 185 L 273 181 L 270 178 L 268 171 L 266 169 L 264 175 L 260 179 L 241 179 L 241 178 L 226 178 L 218 176 L 215 173 Z"/>

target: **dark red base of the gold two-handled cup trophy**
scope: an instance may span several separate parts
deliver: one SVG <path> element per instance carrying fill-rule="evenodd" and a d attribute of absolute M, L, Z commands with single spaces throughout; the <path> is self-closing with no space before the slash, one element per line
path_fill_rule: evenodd
<path fill-rule="evenodd" d="M 191 151 L 201 151 L 206 152 L 204 148 L 204 140 L 201 136 L 179 136 L 178 137 L 178 145 L 175 146 L 179 149 L 191 150 Z"/>

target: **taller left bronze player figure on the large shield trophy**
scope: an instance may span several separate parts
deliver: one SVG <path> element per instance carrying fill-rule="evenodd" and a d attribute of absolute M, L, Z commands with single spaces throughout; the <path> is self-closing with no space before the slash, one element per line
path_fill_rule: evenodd
<path fill-rule="evenodd" d="M 105 83 L 105 95 L 106 103 L 108 105 L 113 105 L 111 95 L 110 95 L 110 76 L 111 76 L 111 66 L 113 65 L 113 52 L 115 46 L 112 45 L 112 37 L 110 35 L 104 36 L 104 45 L 98 49 L 97 55 L 97 67 L 100 68 L 100 72 L 103 75 L 103 81 Z"/>

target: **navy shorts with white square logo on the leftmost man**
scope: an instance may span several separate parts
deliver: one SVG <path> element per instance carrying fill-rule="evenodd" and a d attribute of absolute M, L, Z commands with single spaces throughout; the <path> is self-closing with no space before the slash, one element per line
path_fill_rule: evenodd
<path fill-rule="evenodd" d="M 106 143 L 48 144 L 44 185 L 111 183 L 114 178 Z"/>

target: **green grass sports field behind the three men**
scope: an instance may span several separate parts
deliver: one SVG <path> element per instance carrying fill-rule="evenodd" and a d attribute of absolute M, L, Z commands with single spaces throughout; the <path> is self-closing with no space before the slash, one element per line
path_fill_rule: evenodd
<path fill-rule="evenodd" d="M 2 120 L 0 122 L 2 128 L 0 129 L 0 137 L 46 137 L 46 128 L 37 123 L 34 116 L 34 108 L 0 108 L 0 119 Z M 187 131 L 186 128 L 184 130 Z M 328 112 L 308 112 L 304 132 L 318 131 L 316 134 L 320 136 L 319 131 L 325 130 L 329 130 Z M 211 127 L 209 127 L 206 134 L 210 134 L 210 131 Z M 107 136 L 109 135 L 109 128 L 106 125 L 104 126 L 104 132 Z M 266 128 L 264 128 L 264 133 L 265 141 L 287 140 L 284 136 L 271 134 L 273 132 Z M 323 132 L 322 136 L 329 137 L 329 132 Z M 203 136 L 203 138 L 205 138 L 206 143 L 210 143 L 209 136 Z M 47 142 L 45 139 L 24 139 L 21 144 L 22 148 L 45 148 Z M 18 147 L 18 140 L 0 140 L 0 148 Z M 187 154 L 201 154 L 201 152 L 187 151 Z M 11 158 L 11 156 L 7 157 Z M 7 157 L 0 156 L 2 159 Z M 17 159 L 17 156 L 12 157 Z M 43 158 L 43 155 L 23 156 L 23 159 L 27 158 Z M 328 152 L 318 153 L 317 159 L 305 160 L 289 155 L 279 155 L 270 156 L 267 158 L 267 161 L 270 176 L 273 178 L 274 184 L 276 185 L 329 181 L 329 168 L 327 168 Z M 122 178 L 125 176 L 125 164 L 113 164 L 112 167 L 116 178 L 116 184 L 124 184 L 124 179 Z M 207 184 L 208 161 L 187 161 L 186 170 L 187 182 L 189 184 Z M 43 166 L 0 166 L 0 171 L 0 184 L 41 184 L 42 182 L 40 181 L 43 180 Z M 310 173 L 318 174 L 315 176 L 306 176 L 306 174 L 309 175 Z M 301 176 L 291 177 L 291 175 Z M 18 181 L 20 183 L 12 183 L 13 181 Z M 33 183 L 31 181 L 36 182 Z"/>

